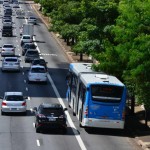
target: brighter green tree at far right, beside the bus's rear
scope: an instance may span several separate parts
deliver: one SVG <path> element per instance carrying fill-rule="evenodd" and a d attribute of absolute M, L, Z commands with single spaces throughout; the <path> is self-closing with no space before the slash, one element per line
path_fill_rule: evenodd
<path fill-rule="evenodd" d="M 116 25 L 109 30 L 114 35 L 114 42 L 105 41 L 106 50 L 98 56 L 100 67 L 116 76 L 119 74 L 128 87 L 134 87 L 136 99 L 140 104 L 144 103 L 146 108 L 150 108 L 148 3 L 149 0 L 120 1 L 120 15 Z"/>

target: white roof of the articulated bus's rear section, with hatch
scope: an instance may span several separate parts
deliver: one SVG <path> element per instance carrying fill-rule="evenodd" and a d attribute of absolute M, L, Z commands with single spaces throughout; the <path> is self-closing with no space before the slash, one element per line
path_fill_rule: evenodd
<path fill-rule="evenodd" d="M 105 85 L 107 84 L 107 85 L 124 86 L 124 84 L 115 76 L 101 73 L 81 74 L 80 80 L 82 80 L 85 86 L 87 86 L 88 84 L 105 84 Z"/>

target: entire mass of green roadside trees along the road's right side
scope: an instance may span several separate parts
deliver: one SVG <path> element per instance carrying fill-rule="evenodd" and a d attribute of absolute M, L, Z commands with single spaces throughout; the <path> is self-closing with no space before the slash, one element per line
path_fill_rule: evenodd
<path fill-rule="evenodd" d="M 72 51 L 117 76 L 150 110 L 150 0 L 35 0 Z"/>

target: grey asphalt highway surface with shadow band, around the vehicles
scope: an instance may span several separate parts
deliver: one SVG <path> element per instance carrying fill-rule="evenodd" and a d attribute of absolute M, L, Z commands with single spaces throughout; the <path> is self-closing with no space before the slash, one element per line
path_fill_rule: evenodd
<path fill-rule="evenodd" d="M 20 4 L 22 9 L 33 11 L 29 4 Z M 0 6 L 1 16 L 3 6 Z M 33 11 L 34 13 L 34 11 Z M 36 16 L 36 14 L 35 14 Z M 36 16 L 38 18 L 38 16 Z M 0 28 L 2 27 L 0 19 Z M 25 19 L 17 19 L 13 13 L 13 37 L 2 37 L 0 46 L 14 44 L 16 55 L 21 56 L 20 27 Z M 27 83 L 29 63 L 21 56 L 21 72 L 2 72 L 0 70 L 0 96 L 6 91 L 21 91 L 27 100 L 27 115 L 0 114 L 0 150 L 139 150 L 130 133 L 119 130 L 95 129 L 92 131 L 79 128 L 78 120 L 68 108 L 68 133 L 57 131 L 36 133 L 34 128 L 33 107 L 42 102 L 60 102 L 68 107 L 66 101 L 65 76 L 68 71 L 68 59 L 57 41 L 48 32 L 38 18 L 34 26 L 34 41 L 41 56 L 48 62 L 48 84 Z M 0 56 L 0 59 L 2 57 Z M 1 61 L 0 61 L 1 67 Z"/>

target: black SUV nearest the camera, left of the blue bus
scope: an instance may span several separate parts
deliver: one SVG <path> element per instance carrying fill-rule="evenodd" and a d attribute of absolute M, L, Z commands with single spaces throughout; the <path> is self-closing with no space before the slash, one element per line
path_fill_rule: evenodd
<path fill-rule="evenodd" d="M 67 108 L 59 103 L 42 103 L 39 107 L 34 107 L 36 132 L 43 129 L 60 129 L 67 132 L 67 118 L 65 112 Z M 57 130 L 56 130 L 57 131 Z"/>

